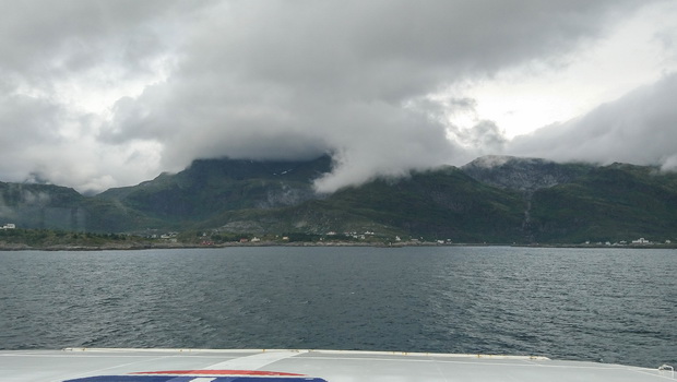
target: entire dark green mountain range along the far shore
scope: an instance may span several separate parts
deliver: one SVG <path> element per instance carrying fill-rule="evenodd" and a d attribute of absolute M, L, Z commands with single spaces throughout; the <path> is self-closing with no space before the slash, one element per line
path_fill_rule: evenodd
<path fill-rule="evenodd" d="M 583 242 L 677 237 L 677 175 L 614 164 L 506 156 L 379 178 L 331 195 L 313 180 L 331 158 L 201 159 L 178 174 L 83 196 L 0 183 L 0 223 L 99 232 L 369 232 L 455 242 Z"/>

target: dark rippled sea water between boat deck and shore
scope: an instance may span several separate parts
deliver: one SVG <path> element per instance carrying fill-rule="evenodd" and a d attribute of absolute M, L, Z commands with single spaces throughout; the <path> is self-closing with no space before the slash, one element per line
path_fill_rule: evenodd
<path fill-rule="evenodd" d="M 677 250 L 0 252 L 0 349 L 81 346 L 677 365 Z"/>

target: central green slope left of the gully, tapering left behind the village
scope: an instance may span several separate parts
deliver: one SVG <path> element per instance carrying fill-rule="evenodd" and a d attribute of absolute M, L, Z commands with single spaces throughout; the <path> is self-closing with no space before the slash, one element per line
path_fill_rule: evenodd
<path fill-rule="evenodd" d="M 507 242 L 522 235 L 516 192 L 482 184 L 454 167 L 378 179 L 322 200 L 270 212 L 227 213 L 211 226 L 254 232 L 365 232 Z"/>

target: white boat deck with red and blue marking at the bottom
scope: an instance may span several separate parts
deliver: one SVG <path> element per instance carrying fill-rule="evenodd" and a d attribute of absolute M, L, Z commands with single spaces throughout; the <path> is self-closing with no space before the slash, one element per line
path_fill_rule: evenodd
<path fill-rule="evenodd" d="M 247 374 L 240 370 L 254 372 Z M 165 372 L 139 374 L 157 371 Z M 292 373 L 304 375 L 294 377 Z M 347 350 L 73 348 L 0 351 L 1 381 L 62 382 L 76 379 L 85 382 L 677 380 L 670 370 L 550 360 L 544 357 Z"/>

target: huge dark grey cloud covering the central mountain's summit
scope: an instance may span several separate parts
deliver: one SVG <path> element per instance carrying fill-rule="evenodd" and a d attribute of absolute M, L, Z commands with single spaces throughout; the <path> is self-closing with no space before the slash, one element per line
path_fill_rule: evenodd
<path fill-rule="evenodd" d="M 183 36 L 168 81 L 121 100 L 100 139 L 158 140 L 171 168 L 200 156 L 330 152 L 337 166 L 319 183 L 328 191 L 449 163 L 467 153 L 447 140 L 448 126 L 405 105 L 466 75 L 557 57 L 599 33 L 620 4 L 216 3 Z M 500 143 L 489 128 L 478 126 L 494 138 L 477 144 Z"/>

